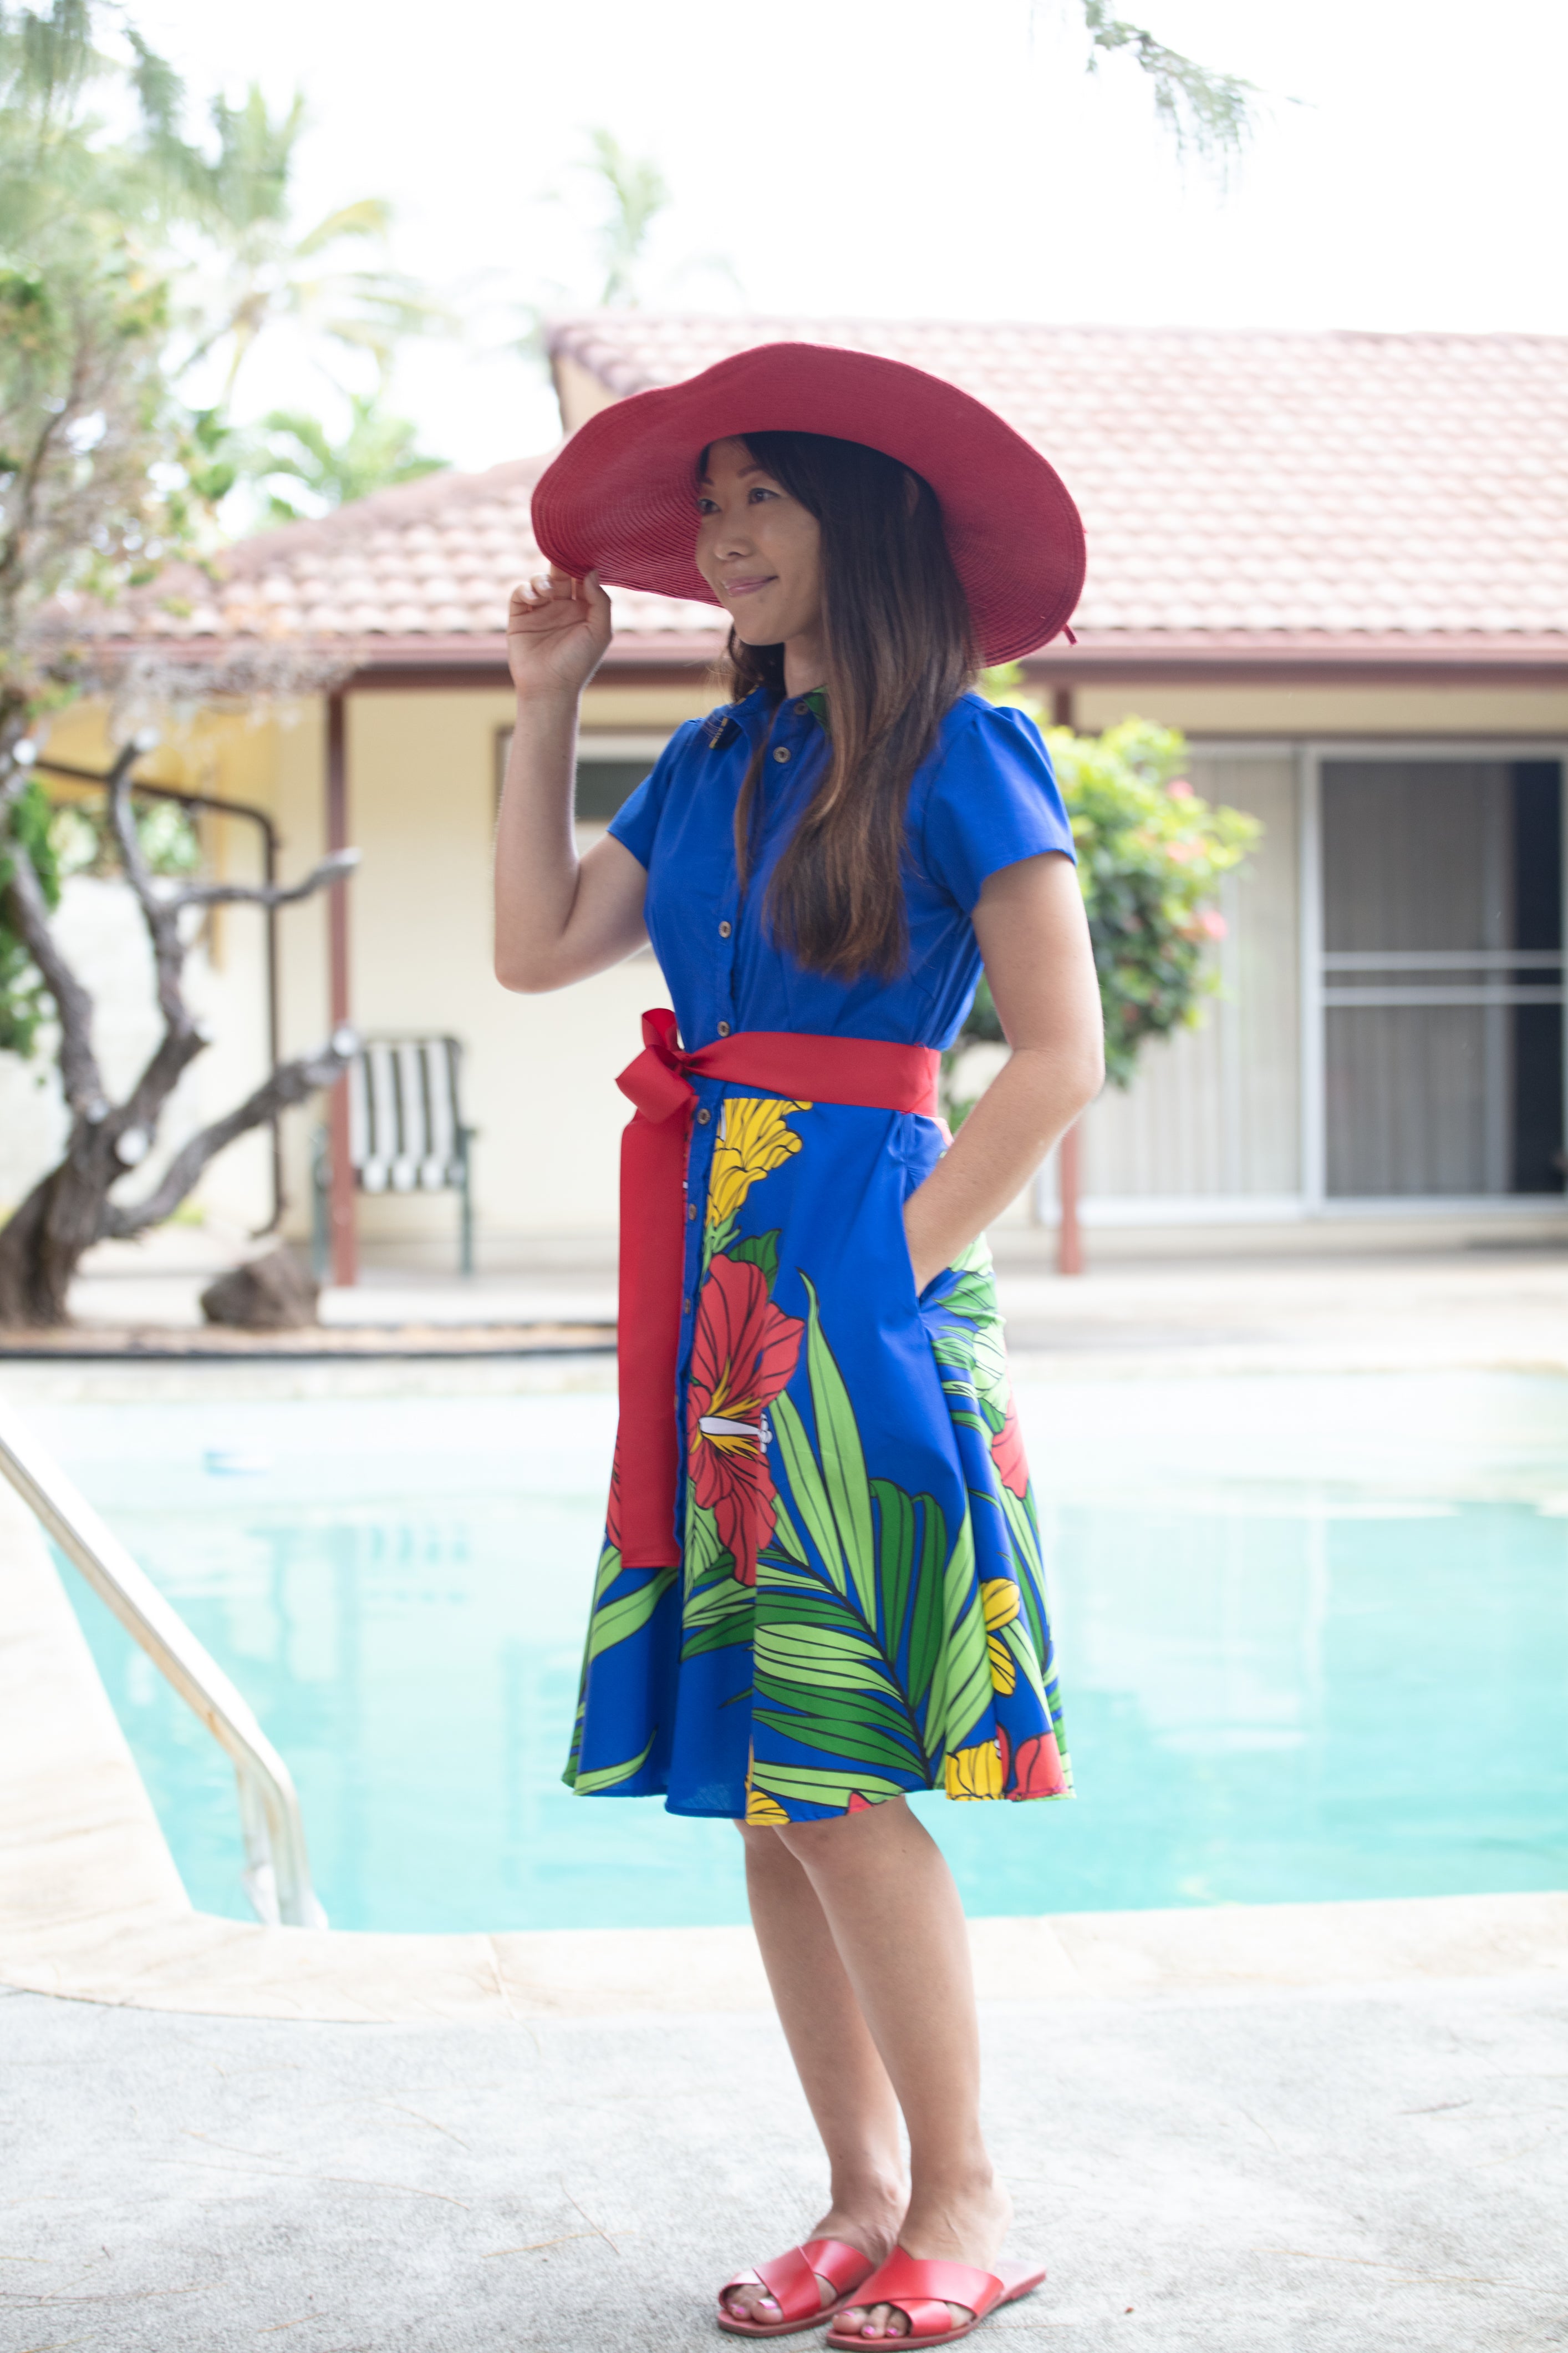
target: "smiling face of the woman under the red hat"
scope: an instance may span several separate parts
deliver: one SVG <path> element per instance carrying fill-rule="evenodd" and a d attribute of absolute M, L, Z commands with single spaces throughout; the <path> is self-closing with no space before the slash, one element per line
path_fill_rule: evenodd
<path fill-rule="evenodd" d="M 743 440 L 715 442 L 696 496 L 696 567 L 743 645 L 788 645 L 823 626 L 823 534 Z"/>

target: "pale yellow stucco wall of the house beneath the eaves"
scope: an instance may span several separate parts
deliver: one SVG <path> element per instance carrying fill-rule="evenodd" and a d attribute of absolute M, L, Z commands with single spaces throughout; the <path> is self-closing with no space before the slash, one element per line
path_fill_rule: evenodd
<path fill-rule="evenodd" d="M 661 734 L 705 711 L 693 680 L 595 685 L 588 732 Z M 1126 713 L 1185 727 L 1197 739 L 1314 736 L 1566 741 L 1568 692 L 1516 687 L 1079 687 L 1077 722 L 1098 729 Z M 536 1259 L 574 1240 L 609 1240 L 616 1224 L 616 1148 L 625 1118 L 614 1073 L 637 1047 L 637 1014 L 665 1002 L 651 955 L 552 998 L 515 998 L 491 967 L 491 835 L 496 739 L 512 701 L 491 689 L 355 692 L 348 706 L 350 838 L 362 868 L 350 885 L 353 1019 L 362 1031 L 451 1031 L 468 1047 L 468 1115 L 480 1129 L 475 1191 L 480 1264 Z M 52 725 L 56 758 L 101 767 L 103 713 L 80 706 Z M 169 718 L 146 774 L 193 784 L 270 809 L 282 835 L 282 875 L 322 854 L 324 704 L 259 713 Z M 247 828 L 209 828 L 221 871 L 254 871 Z M 324 901 L 280 922 L 282 1047 L 327 1031 Z M 235 911 L 212 927 L 200 962 L 202 1002 L 219 1042 L 188 1080 L 181 1120 L 195 1125 L 237 1101 L 261 1075 L 261 922 Z M 193 965 L 195 974 L 195 965 Z M 14 1078 L 14 1073 L 12 1073 Z M 2 1082 L 12 1082 L 0 1073 Z M 28 1080 L 31 1082 L 31 1080 Z M 2 1106 L 0 1106 L 2 1108 Z M 287 1120 L 289 1231 L 310 1219 L 308 1139 L 320 1104 Z M 2 1122 L 0 1122 L 2 1125 Z M 0 1169 L 0 1198 L 16 1198 L 28 1169 Z M 33 1169 L 31 1174 L 38 1174 Z M 256 1224 L 266 1200 L 261 1139 L 226 1153 L 200 1198 Z M 1027 1214 L 1020 1202 L 1016 1219 Z M 456 1205 L 449 1195 L 362 1200 L 371 1257 L 454 1264 Z"/>

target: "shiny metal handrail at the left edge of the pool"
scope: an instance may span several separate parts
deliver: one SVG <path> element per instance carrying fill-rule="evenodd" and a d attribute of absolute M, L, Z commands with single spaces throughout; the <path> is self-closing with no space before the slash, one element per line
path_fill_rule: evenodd
<path fill-rule="evenodd" d="M 92 1504 L 0 1402 L 0 1471 L 125 1631 L 228 1751 L 240 1788 L 244 1892 L 268 1927 L 327 1927 L 294 1777 L 223 1668 Z"/>

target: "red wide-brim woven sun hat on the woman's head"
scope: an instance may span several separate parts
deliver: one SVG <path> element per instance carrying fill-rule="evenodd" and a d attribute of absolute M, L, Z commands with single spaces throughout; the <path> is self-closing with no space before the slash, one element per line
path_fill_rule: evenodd
<path fill-rule="evenodd" d="M 1056 468 L 957 384 L 832 344 L 759 344 L 599 409 L 538 478 L 538 546 L 574 579 L 597 572 L 614 588 L 717 605 L 691 560 L 696 461 L 745 433 L 832 433 L 919 473 L 940 501 L 983 661 L 1016 661 L 1067 626 L 1084 525 Z"/>

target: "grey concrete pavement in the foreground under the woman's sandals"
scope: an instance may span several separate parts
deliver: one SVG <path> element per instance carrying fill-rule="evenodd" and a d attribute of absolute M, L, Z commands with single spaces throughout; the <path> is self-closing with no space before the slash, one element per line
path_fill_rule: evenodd
<path fill-rule="evenodd" d="M 1051 2264 L 990 2341 L 1566 2346 L 1566 2026 L 1561 1979 L 990 2009 L 1013 2247 Z M 717 2348 L 710 2287 L 820 2198 L 759 2017 L 289 2026 L 9 1995 L 0 2061 L 2 2353 Z"/>

